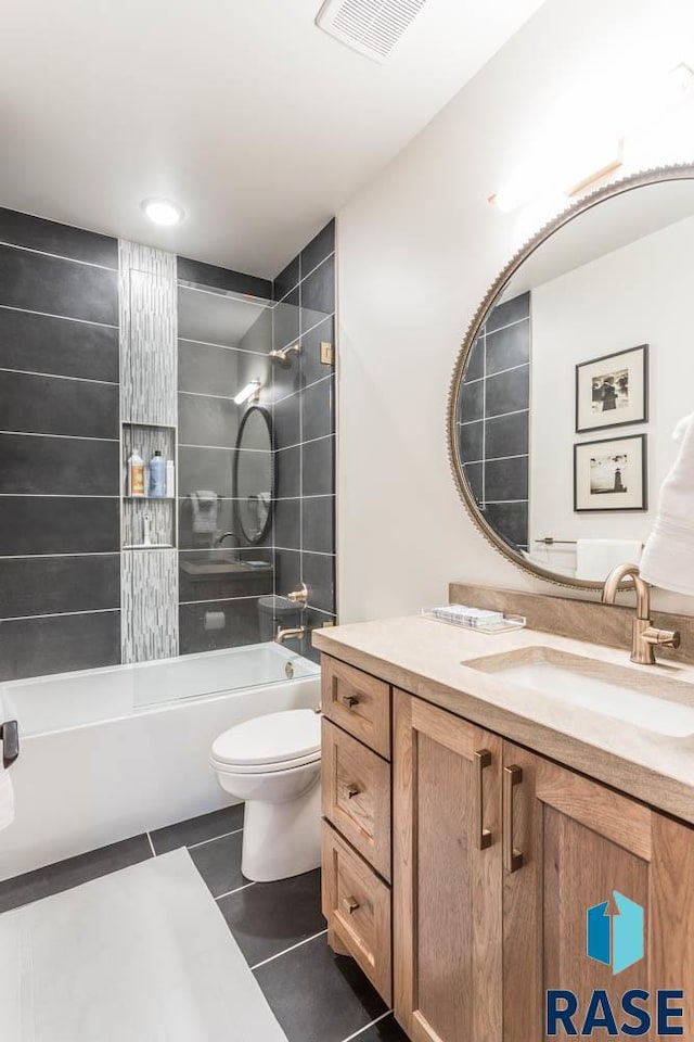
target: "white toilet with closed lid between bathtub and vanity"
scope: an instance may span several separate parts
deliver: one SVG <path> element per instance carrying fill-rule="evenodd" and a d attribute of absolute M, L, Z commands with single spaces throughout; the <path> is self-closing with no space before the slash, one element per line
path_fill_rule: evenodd
<path fill-rule="evenodd" d="M 256 716 L 213 744 L 222 789 L 245 800 L 241 871 L 286 879 L 321 861 L 321 719 L 312 709 Z"/>

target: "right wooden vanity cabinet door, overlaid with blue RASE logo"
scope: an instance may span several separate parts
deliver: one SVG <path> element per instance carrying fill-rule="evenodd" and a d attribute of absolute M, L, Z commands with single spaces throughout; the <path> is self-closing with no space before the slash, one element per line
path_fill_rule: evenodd
<path fill-rule="evenodd" d="M 504 1042 L 550 1037 L 550 989 L 577 996 L 578 1037 L 595 990 L 607 993 L 620 1038 L 637 1026 L 624 994 L 648 992 L 648 1039 L 657 990 L 684 990 L 685 1017 L 672 1022 L 694 1038 L 694 830 L 507 742 L 503 761 Z"/>

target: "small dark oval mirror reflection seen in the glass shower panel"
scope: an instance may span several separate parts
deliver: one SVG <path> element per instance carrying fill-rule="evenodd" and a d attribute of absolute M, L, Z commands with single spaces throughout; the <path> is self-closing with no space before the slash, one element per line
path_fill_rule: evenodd
<path fill-rule="evenodd" d="M 239 428 L 234 455 L 234 499 L 239 532 L 261 543 L 270 530 L 274 497 L 272 421 L 267 409 L 252 406 Z"/>

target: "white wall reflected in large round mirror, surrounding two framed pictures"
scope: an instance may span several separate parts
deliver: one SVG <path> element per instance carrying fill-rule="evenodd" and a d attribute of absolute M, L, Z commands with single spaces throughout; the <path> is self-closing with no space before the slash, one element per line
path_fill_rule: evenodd
<path fill-rule="evenodd" d="M 694 408 L 692 243 L 694 218 L 532 290 L 531 541 L 552 535 L 645 542 L 656 514 L 658 488 L 677 454 L 672 431 Z M 650 422 L 577 435 L 577 363 L 644 343 L 651 356 Z M 575 513 L 574 443 L 642 433 L 648 436 L 650 509 Z M 534 552 L 549 567 L 561 563 L 553 550 Z"/>

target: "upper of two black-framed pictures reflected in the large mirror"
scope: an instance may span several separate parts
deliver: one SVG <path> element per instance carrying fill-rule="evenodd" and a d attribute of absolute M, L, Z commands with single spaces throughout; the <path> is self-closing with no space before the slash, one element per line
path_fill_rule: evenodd
<path fill-rule="evenodd" d="M 648 345 L 576 366 L 576 433 L 648 419 Z"/>

